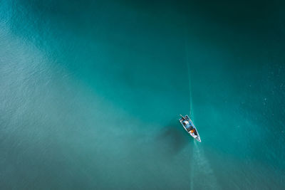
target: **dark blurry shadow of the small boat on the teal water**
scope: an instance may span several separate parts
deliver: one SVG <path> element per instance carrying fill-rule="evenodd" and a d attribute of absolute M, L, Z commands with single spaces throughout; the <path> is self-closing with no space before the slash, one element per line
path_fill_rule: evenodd
<path fill-rule="evenodd" d="M 190 137 L 180 122 L 172 119 L 157 135 L 157 149 L 164 154 L 178 154 L 187 146 L 189 140 Z"/>

